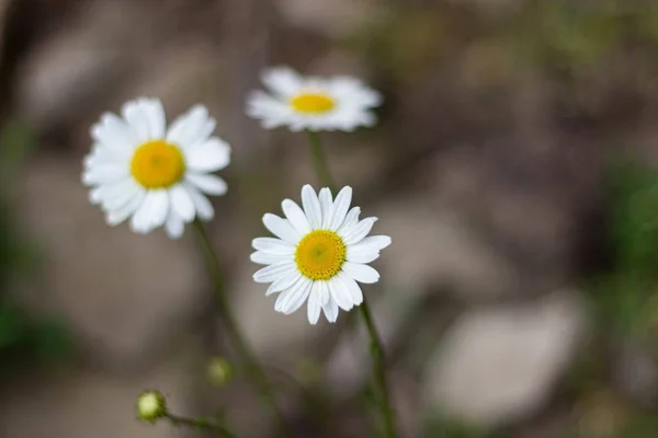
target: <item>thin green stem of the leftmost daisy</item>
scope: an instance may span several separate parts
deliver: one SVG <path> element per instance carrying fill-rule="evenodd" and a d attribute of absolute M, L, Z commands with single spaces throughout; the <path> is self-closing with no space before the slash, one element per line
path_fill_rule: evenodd
<path fill-rule="evenodd" d="M 193 223 L 194 229 L 196 230 L 196 235 L 198 237 L 198 243 L 202 246 L 206 258 L 208 270 L 213 277 L 213 283 L 215 284 L 215 297 L 217 303 L 219 304 L 222 320 L 230 342 L 235 347 L 242 366 L 245 367 L 245 374 L 259 392 L 262 401 L 272 408 L 279 423 L 280 436 L 290 436 L 287 423 L 283 413 L 276 405 L 276 397 L 274 396 L 274 392 L 272 391 L 268 376 L 265 374 L 262 366 L 259 364 L 258 358 L 247 344 L 245 336 L 240 332 L 236 318 L 230 310 L 228 297 L 224 287 L 224 276 L 222 275 L 222 269 L 219 267 L 219 260 L 217 258 L 217 254 L 211 244 L 208 234 L 206 233 L 203 223 L 198 219 L 195 219 Z"/>

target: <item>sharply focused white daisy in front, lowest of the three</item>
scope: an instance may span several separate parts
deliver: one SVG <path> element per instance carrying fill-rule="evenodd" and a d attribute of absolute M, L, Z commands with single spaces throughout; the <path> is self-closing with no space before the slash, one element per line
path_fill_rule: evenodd
<path fill-rule="evenodd" d="M 356 284 L 376 283 L 379 274 L 366 265 L 390 244 L 387 235 L 366 237 L 377 218 L 359 220 L 361 209 L 350 209 L 352 188 L 344 187 L 336 200 L 329 188 L 319 197 L 311 186 L 302 188 L 302 209 L 295 201 L 281 203 L 286 219 L 266 214 L 263 223 L 276 238 L 253 240 L 251 261 L 268 265 L 253 275 L 271 283 L 265 296 L 281 292 L 274 310 L 291 314 L 308 299 L 308 321 L 318 322 L 320 311 L 329 322 L 338 309 L 348 311 L 363 302 Z M 349 211 L 348 211 L 349 210 Z"/>

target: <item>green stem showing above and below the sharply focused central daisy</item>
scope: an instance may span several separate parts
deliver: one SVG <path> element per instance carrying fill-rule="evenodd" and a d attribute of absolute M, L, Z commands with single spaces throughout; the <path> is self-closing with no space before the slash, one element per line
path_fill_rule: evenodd
<path fill-rule="evenodd" d="M 336 191 L 331 172 L 327 164 L 327 159 L 322 151 L 322 145 L 320 141 L 320 135 L 318 132 L 308 131 L 308 140 L 310 143 L 310 152 L 313 155 L 313 164 L 315 166 L 320 184 Z M 378 400 L 377 407 L 382 415 L 384 423 L 384 434 L 386 438 L 395 438 L 397 436 L 395 426 L 395 413 L 390 404 L 390 393 L 388 391 L 388 379 L 386 378 L 386 354 L 384 353 L 384 346 L 377 327 L 373 321 L 372 312 L 367 303 L 367 299 L 364 296 L 363 302 L 360 306 L 360 311 L 367 327 L 367 334 L 371 339 L 371 356 L 373 360 L 373 379 L 377 387 Z"/>

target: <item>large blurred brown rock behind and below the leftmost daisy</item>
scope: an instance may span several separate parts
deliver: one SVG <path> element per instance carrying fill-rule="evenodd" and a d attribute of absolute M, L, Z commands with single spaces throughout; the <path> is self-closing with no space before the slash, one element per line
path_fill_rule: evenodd
<path fill-rule="evenodd" d="M 22 298 L 67 321 L 105 365 L 146 360 L 203 311 L 206 276 L 190 242 L 170 241 L 162 230 L 137 235 L 127 224 L 106 226 L 89 204 L 77 160 L 33 162 L 20 195 L 24 227 L 46 257 Z"/>

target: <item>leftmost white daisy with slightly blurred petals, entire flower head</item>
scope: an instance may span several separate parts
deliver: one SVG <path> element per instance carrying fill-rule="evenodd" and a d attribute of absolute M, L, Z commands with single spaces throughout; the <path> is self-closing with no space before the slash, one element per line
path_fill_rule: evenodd
<path fill-rule="evenodd" d="M 123 105 L 122 117 L 105 113 L 92 126 L 92 151 L 84 158 L 82 182 L 110 226 L 131 218 L 131 228 L 148 233 L 164 226 L 170 238 L 183 234 L 195 217 L 213 218 L 206 195 L 224 195 L 226 182 L 211 174 L 230 162 L 230 147 L 212 137 L 215 119 L 196 105 L 169 129 L 157 99 Z"/>

